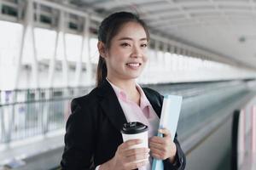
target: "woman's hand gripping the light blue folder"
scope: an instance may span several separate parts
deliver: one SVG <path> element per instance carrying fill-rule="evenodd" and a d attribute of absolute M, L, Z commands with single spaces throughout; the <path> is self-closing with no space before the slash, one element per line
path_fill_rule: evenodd
<path fill-rule="evenodd" d="M 166 128 L 159 130 L 163 133 L 163 138 L 154 136 L 149 139 L 149 148 L 151 151 L 151 156 L 156 159 L 169 160 L 173 163 L 177 153 L 176 144 L 172 141 L 172 135 Z"/>

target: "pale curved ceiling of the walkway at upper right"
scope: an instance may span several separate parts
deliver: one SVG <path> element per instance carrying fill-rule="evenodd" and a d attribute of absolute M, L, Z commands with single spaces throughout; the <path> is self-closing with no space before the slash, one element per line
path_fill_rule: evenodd
<path fill-rule="evenodd" d="M 60 1 L 59 1 L 60 2 Z M 61 1 L 63 2 L 63 1 Z M 66 0 L 106 16 L 140 14 L 151 30 L 256 68 L 256 0 Z"/>

